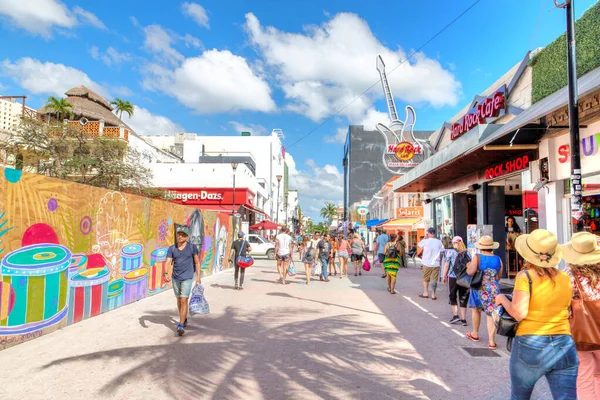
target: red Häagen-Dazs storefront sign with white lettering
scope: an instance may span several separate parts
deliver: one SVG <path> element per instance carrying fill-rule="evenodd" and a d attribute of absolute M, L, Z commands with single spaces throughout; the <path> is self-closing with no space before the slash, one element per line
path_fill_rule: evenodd
<path fill-rule="evenodd" d="M 254 193 L 247 188 L 166 188 L 166 200 L 185 205 L 232 205 L 252 206 Z"/>

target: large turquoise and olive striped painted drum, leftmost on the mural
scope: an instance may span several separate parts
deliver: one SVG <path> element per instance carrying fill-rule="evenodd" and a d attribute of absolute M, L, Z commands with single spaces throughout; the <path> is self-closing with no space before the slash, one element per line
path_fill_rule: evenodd
<path fill-rule="evenodd" d="M 70 264 L 71 252 L 58 244 L 25 246 L 2 259 L 0 309 L 6 312 L 0 336 L 33 332 L 64 319 Z M 6 307 L 5 299 L 12 299 Z"/>

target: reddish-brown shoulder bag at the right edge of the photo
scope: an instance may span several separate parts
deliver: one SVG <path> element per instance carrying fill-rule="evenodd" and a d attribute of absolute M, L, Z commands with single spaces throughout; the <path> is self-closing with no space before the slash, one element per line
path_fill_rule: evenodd
<path fill-rule="evenodd" d="M 579 299 L 571 302 L 573 314 L 569 320 L 575 346 L 578 351 L 600 350 L 600 300 L 586 299 L 580 277 L 573 277 L 579 289 Z"/>

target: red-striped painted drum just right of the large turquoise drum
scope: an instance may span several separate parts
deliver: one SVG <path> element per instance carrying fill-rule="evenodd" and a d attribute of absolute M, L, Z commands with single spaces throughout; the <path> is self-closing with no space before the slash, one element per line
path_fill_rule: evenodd
<path fill-rule="evenodd" d="M 89 268 L 69 279 L 69 324 L 106 311 L 109 279 L 106 267 Z"/>

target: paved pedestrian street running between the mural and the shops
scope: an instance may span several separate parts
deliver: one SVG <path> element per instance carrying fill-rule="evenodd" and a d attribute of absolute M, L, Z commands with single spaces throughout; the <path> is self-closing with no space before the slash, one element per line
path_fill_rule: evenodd
<path fill-rule="evenodd" d="M 420 272 L 402 269 L 390 295 L 380 270 L 281 285 L 257 260 L 243 291 L 232 271 L 204 279 L 211 314 L 183 337 L 167 291 L 1 351 L 0 398 L 507 399 L 505 340 L 469 355 L 486 341 L 446 323 L 445 288 L 418 298 Z"/>

